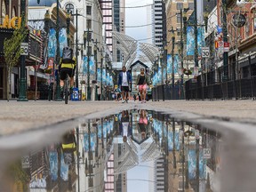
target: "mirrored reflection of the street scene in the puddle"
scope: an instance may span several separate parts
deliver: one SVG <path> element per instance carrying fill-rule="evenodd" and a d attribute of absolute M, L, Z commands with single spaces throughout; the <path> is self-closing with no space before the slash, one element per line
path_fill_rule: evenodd
<path fill-rule="evenodd" d="M 4 191 L 220 191 L 220 134 L 126 110 L 66 132 L 8 167 Z"/>

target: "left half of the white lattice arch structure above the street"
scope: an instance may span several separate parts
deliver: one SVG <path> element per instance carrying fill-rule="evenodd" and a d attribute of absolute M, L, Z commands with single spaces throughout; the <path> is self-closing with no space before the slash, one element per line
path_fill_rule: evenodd
<path fill-rule="evenodd" d="M 116 38 L 116 49 L 120 50 L 124 54 L 123 66 L 126 68 L 132 64 L 137 55 L 138 42 L 131 36 L 119 33 L 117 31 L 112 32 L 113 38 Z"/>

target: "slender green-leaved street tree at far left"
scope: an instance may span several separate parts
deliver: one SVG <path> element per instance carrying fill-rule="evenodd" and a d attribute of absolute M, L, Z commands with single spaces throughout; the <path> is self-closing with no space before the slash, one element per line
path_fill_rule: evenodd
<path fill-rule="evenodd" d="M 11 91 L 11 71 L 17 65 L 20 59 L 20 44 L 24 41 L 28 34 L 27 28 L 14 29 L 11 38 L 4 39 L 4 60 L 7 67 L 7 100 L 10 100 Z"/>

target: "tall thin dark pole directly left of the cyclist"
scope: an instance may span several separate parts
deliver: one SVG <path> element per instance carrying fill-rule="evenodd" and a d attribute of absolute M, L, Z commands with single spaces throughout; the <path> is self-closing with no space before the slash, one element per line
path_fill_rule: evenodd
<path fill-rule="evenodd" d="M 57 54 L 56 54 L 56 63 L 60 63 L 60 2 L 57 0 L 57 20 L 56 20 L 56 39 L 57 39 Z M 53 65 L 53 76 L 55 76 L 55 64 Z M 57 85 L 56 85 L 56 101 L 61 101 L 62 98 L 60 97 L 60 76 L 57 73 Z"/>

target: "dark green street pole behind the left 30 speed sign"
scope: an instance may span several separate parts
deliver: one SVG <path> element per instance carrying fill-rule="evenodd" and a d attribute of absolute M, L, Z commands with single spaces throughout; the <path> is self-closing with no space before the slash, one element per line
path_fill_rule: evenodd
<path fill-rule="evenodd" d="M 21 8 L 21 28 L 25 28 L 26 25 L 26 0 L 21 0 L 20 4 Z M 20 55 L 20 92 L 19 92 L 19 100 L 17 101 L 28 101 L 26 94 L 26 56 Z"/>

